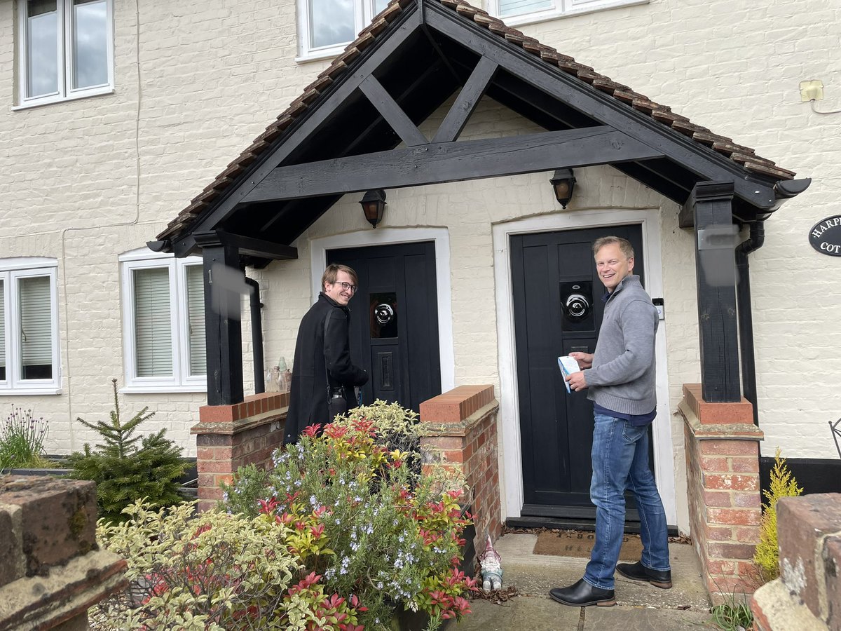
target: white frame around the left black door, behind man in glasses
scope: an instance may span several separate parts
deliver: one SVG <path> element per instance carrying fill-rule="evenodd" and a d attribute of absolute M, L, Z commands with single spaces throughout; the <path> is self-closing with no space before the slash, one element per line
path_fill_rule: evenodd
<path fill-rule="evenodd" d="M 438 297 L 438 353 L 441 362 L 441 391 L 456 387 L 456 360 L 452 346 L 452 304 L 450 300 L 450 233 L 447 228 L 378 228 L 323 236 L 309 241 L 309 269 L 312 301 L 321 290 L 321 275 L 327 267 L 327 251 L 347 247 L 385 246 L 415 241 L 435 241 L 435 275 Z M 351 305 L 352 306 L 352 305 Z"/>

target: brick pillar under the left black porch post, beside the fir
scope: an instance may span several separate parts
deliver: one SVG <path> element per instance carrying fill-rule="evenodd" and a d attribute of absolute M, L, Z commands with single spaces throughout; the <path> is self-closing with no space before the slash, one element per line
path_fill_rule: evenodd
<path fill-rule="evenodd" d="M 199 511 L 222 499 L 220 483 L 230 484 L 236 469 L 268 466 L 283 443 L 288 405 L 288 392 L 263 392 L 231 406 L 198 409 L 190 432 L 196 435 Z"/>

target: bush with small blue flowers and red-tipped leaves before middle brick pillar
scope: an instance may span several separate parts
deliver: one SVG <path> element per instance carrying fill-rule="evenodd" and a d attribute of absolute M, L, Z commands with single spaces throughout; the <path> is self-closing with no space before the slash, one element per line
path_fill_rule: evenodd
<path fill-rule="evenodd" d="M 278 449 L 272 471 L 241 469 L 226 503 L 231 512 L 288 528 L 288 550 L 323 577 L 325 591 L 352 602 L 358 628 L 389 628 L 397 607 L 427 612 L 428 628 L 438 628 L 470 612 L 464 596 L 476 589 L 458 570 L 468 525 L 458 506 L 462 491 L 434 490 L 410 471 L 408 452 L 389 451 L 380 438 L 362 418 L 321 434 L 320 426 L 308 427 L 298 444 Z M 257 502 L 254 476 L 267 485 Z"/>

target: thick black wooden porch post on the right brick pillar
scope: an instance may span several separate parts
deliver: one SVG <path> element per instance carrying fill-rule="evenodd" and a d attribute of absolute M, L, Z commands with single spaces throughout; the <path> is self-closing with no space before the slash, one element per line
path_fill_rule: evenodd
<path fill-rule="evenodd" d="M 711 403 L 740 401 L 733 183 L 697 183 L 686 204 L 695 217 L 701 394 Z"/>

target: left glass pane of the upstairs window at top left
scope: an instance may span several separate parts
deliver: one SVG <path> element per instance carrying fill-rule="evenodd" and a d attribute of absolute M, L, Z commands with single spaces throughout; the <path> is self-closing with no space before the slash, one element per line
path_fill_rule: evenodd
<path fill-rule="evenodd" d="M 56 0 L 26 3 L 26 94 L 58 92 L 58 12 Z"/>

